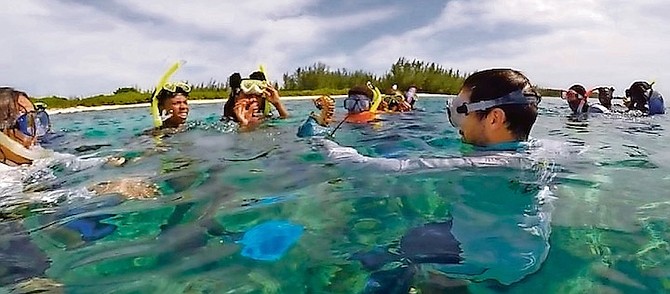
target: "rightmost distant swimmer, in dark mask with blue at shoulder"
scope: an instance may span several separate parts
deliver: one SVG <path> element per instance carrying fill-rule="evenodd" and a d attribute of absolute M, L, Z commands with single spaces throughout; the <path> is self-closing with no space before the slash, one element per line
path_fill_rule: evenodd
<path fill-rule="evenodd" d="M 652 84 L 646 81 L 636 81 L 630 85 L 626 90 L 629 110 L 639 110 L 648 115 L 665 113 L 663 96 L 652 89 Z"/>

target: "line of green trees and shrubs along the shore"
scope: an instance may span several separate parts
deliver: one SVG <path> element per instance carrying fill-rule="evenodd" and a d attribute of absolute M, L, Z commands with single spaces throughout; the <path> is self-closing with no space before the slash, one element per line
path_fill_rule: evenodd
<path fill-rule="evenodd" d="M 280 91 L 282 96 L 337 95 L 346 94 L 352 86 L 365 85 L 370 81 L 382 92 L 387 93 L 396 84 L 398 89 L 403 91 L 414 85 L 424 93 L 457 94 L 467 75 L 468 73 L 445 68 L 435 62 L 408 60 L 404 57 L 399 58 L 383 75 L 375 75 L 363 70 L 331 69 L 326 64 L 317 62 L 297 68 L 292 73 L 283 74 L 283 86 Z M 555 94 L 555 91 L 548 89 L 540 89 L 540 91 L 543 96 Z M 152 92 L 153 89 L 123 87 L 110 95 L 96 95 L 80 99 L 52 96 L 33 100 L 44 102 L 49 108 L 123 105 L 150 102 Z M 210 80 L 207 83 L 194 84 L 189 99 L 224 99 L 228 97 L 228 93 L 227 81 Z"/>

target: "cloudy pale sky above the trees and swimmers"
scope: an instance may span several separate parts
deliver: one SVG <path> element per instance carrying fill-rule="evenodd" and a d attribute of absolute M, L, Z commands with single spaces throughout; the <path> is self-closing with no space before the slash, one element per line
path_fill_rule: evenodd
<path fill-rule="evenodd" d="M 568 88 L 654 81 L 670 95 L 667 0 L 0 0 L 0 77 L 31 96 L 84 97 L 175 80 L 271 80 L 322 62 L 384 74 L 398 58 L 507 67 Z"/>

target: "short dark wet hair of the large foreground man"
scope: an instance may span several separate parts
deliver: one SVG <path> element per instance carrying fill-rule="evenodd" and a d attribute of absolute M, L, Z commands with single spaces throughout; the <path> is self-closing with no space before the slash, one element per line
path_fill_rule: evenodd
<path fill-rule="evenodd" d="M 473 73 L 465 79 L 461 89 L 471 91 L 471 103 L 493 100 L 518 90 L 522 90 L 524 95 L 535 96 L 538 101 L 541 98 L 526 76 L 517 70 L 506 68 L 487 69 Z M 530 130 L 537 119 L 536 103 L 499 105 L 477 111 L 476 114 L 479 119 L 483 119 L 494 108 L 500 108 L 505 112 L 507 129 L 517 140 L 528 139 Z"/>

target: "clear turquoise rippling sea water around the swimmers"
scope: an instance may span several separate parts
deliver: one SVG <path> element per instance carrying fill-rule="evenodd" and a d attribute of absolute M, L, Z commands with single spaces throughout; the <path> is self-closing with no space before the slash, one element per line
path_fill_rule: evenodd
<path fill-rule="evenodd" d="M 569 148 L 546 152 L 543 162 L 550 168 L 399 174 L 328 160 L 319 146 L 295 136 L 312 104 L 286 104 L 292 118 L 252 133 L 219 123 L 221 105 L 193 105 L 190 130 L 160 140 L 141 135 L 150 125 L 146 109 L 53 115 L 58 136 L 45 146 L 83 157 L 123 154 L 135 160 L 81 171 L 54 164 L 52 176 L 31 188 L 34 193 L 142 177 L 162 195 L 119 203 L 114 195 L 83 199 L 59 192 L 65 196 L 58 205 L 26 213 L 23 223 L 32 242 L 52 260 L 45 276 L 71 293 L 356 293 L 370 272 L 350 259 L 353 253 L 397 248 L 408 229 L 452 216 L 456 222 L 457 207 L 479 213 L 469 220 L 473 226 L 514 225 L 514 217 L 530 213 L 533 196 L 548 185 L 557 199 L 551 249 L 538 272 L 504 286 L 449 280 L 423 269 L 412 285 L 421 293 L 670 290 L 666 116 L 575 121 L 561 100 L 548 98 L 532 136 Z M 471 151 L 449 125 L 443 98 L 423 99 L 418 106 L 426 110 L 386 115 L 374 125 L 345 124 L 336 139 L 375 157 Z M 82 206 L 69 218 L 53 217 Z M 65 225 L 78 216 L 100 215 L 116 229 L 96 241 L 81 241 Z M 236 241 L 244 232 L 272 221 L 299 226 L 302 235 L 276 261 L 242 254 L 244 245 Z M 212 233 L 212 227 L 228 233 Z"/>

